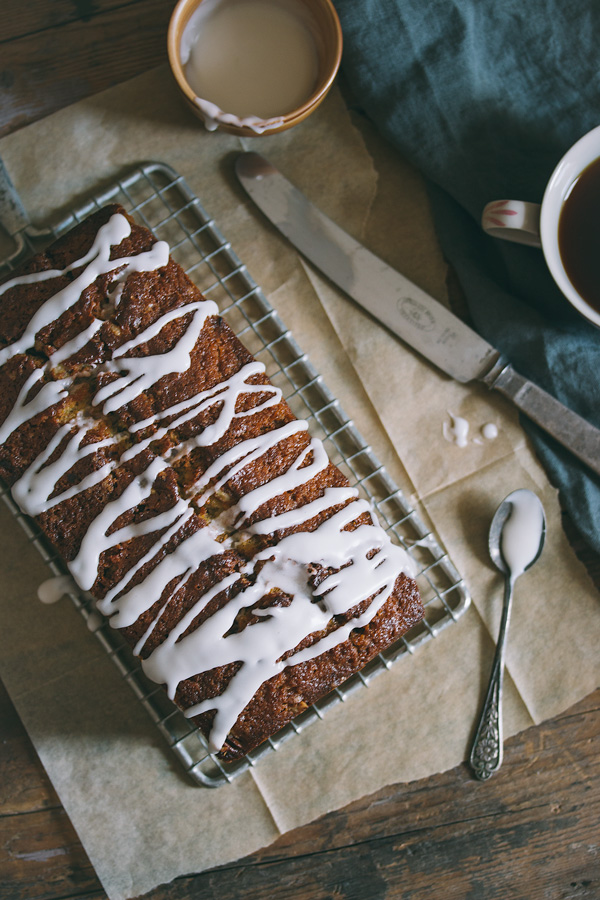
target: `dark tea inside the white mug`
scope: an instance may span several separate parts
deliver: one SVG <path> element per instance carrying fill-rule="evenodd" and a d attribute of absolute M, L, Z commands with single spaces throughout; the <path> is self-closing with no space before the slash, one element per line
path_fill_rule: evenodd
<path fill-rule="evenodd" d="M 600 312 L 600 159 L 569 189 L 558 221 L 558 248 L 571 284 Z"/>

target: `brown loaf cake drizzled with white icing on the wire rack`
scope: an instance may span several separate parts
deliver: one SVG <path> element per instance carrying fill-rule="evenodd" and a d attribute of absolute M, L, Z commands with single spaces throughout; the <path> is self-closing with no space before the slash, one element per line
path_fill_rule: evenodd
<path fill-rule="evenodd" d="M 0 295 L 0 476 L 222 758 L 422 617 L 410 558 L 123 209 Z"/>

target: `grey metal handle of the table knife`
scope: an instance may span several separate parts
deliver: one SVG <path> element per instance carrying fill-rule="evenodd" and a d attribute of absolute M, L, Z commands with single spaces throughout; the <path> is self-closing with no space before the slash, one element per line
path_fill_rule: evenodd
<path fill-rule="evenodd" d="M 600 475 L 600 431 L 597 428 L 523 378 L 510 365 L 496 364 L 482 381 L 512 400 L 536 425 Z"/>

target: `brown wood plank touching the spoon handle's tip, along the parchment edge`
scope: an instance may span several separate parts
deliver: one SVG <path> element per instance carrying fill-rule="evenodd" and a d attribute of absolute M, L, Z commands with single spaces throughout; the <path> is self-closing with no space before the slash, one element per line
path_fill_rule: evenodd
<path fill-rule="evenodd" d="M 595 703 L 590 702 L 595 698 Z M 466 765 L 408 785 L 386 787 L 299 832 L 282 835 L 261 860 L 320 853 L 332 846 L 460 821 L 491 820 L 507 810 L 552 819 L 557 804 L 600 802 L 600 691 L 570 713 L 515 735 L 500 771 L 488 782 Z M 600 849 L 600 848 L 599 848 Z"/>

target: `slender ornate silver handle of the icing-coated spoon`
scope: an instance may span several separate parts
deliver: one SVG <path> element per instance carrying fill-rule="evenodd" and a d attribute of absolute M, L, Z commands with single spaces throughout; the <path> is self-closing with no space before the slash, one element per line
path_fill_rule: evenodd
<path fill-rule="evenodd" d="M 507 577 L 504 583 L 504 603 L 498 633 L 498 643 L 492 664 L 492 672 L 487 694 L 481 711 L 479 725 L 473 741 L 469 761 L 475 777 L 486 781 L 502 764 L 502 684 L 504 680 L 504 649 L 508 632 L 508 621 L 512 605 L 513 580 Z"/>

